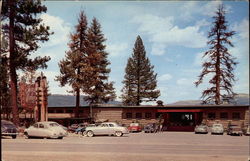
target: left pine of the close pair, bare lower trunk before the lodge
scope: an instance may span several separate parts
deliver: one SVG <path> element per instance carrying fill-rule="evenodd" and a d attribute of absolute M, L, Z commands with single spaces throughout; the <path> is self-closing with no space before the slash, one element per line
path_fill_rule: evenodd
<path fill-rule="evenodd" d="M 70 35 L 68 44 L 70 49 L 66 52 L 66 58 L 59 63 L 61 74 L 56 77 L 56 80 L 60 82 L 61 86 L 66 84 L 72 86 L 73 91 L 71 92 L 76 94 L 75 117 L 79 117 L 80 89 L 84 82 L 81 75 L 82 68 L 86 64 L 87 40 L 87 17 L 83 11 L 80 12 L 75 29 L 75 33 Z"/>

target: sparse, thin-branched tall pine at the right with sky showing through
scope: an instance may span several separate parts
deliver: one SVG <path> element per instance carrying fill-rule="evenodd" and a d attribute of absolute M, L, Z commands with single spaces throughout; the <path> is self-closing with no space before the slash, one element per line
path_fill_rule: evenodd
<path fill-rule="evenodd" d="M 218 7 L 213 19 L 213 27 L 208 34 L 210 47 L 203 56 L 209 59 L 203 63 L 203 70 L 195 85 L 200 85 L 206 75 L 212 75 L 212 79 L 209 81 L 211 87 L 203 91 L 202 98 L 205 103 L 218 105 L 222 103 L 221 98 L 225 93 L 234 95 L 232 90 L 233 82 L 235 82 L 233 70 L 237 62 L 227 49 L 227 46 L 233 47 L 229 38 L 235 34 L 235 31 L 228 31 L 223 5 Z"/>

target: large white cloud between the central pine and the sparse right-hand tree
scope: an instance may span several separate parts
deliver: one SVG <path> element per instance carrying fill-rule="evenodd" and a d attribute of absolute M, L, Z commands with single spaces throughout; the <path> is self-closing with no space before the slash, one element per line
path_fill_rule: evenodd
<path fill-rule="evenodd" d="M 132 22 L 139 24 L 139 32 L 150 37 L 153 55 L 165 54 L 165 48 L 171 45 L 189 48 L 206 46 L 207 38 L 200 31 L 200 24 L 180 28 L 174 25 L 173 17 L 160 17 L 151 14 L 135 16 Z"/>

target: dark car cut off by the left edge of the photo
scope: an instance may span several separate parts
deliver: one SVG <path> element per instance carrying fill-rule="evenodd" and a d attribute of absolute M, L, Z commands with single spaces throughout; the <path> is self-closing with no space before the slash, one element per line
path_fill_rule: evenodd
<path fill-rule="evenodd" d="M 12 122 L 1 120 L 1 136 L 11 136 L 15 139 L 17 135 L 17 127 Z"/>

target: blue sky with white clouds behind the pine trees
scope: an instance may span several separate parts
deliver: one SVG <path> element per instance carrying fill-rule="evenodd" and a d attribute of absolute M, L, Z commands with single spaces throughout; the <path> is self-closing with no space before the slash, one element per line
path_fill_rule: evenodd
<path fill-rule="evenodd" d="M 249 2 L 247 1 L 46 1 L 47 12 L 39 15 L 54 35 L 40 43 L 34 56 L 50 56 L 48 68 L 42 71 L 49 81 L 51 94 L 68 94 L 69 86 L 60 87 L 55 76 L 60 74 L 58 63 L 69 50 L 69 34 L 81 10 L 88 24 L 95 17 L 107 39 L 110 61 L 109 80 L 114 81 L 120 101 L 127 59 L 132 55 L 136 37 L 143 40 L 146 55 L 157 73 L 158 100 L 164 104 L 181 100 L 199 100 L 205 81 L 199 87 L 194 82 L 202 70 L 202 58 L 215 11 L 224 4 L 234 47 L 228 47 L 237 58 L 234 92 L 249 93 Z M 206 78 L 208 80 L 209 78 Z M 151 104 L 155 104 L 152 102 Z"/>

